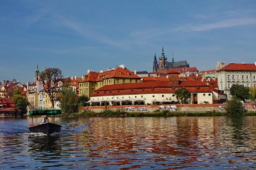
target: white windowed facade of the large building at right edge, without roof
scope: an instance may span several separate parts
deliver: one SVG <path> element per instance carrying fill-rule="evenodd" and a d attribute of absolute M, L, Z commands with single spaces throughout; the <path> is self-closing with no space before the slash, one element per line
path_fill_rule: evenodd
<path fill-rule="evenodd" d="M 227 98 L 230 99 L 230 88 L 233 84 L 240 84 L 245 87 L 256 87 L 256 71 L 220 71 L 218 72 L 218 89 L 224 90 Z"/>

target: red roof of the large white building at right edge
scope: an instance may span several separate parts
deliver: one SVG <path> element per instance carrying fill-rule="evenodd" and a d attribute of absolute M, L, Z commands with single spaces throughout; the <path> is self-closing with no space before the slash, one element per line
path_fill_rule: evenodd
<path fill-rule="evenodd" d="M 255 64 L 243 64 L 243 63 L 230 63 L 220 69 L 219 71 L 230 70 L 230 71 L 256 71 Z"/>

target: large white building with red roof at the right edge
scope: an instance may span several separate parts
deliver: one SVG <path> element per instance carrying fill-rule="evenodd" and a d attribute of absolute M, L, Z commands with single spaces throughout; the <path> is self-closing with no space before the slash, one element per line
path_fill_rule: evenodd
<path fill-rule="evenodd" d="M 217 72 L 218 89 L 224 90 L 230 99 L 230 88 L 233 84 L 245 87 L 256 87 L 256 63 L 230 63 Z"/>

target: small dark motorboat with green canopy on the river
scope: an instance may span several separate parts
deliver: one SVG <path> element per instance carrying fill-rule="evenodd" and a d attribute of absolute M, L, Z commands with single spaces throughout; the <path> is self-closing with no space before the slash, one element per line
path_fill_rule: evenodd
<path fill-rule="evenodd" d="M 61 110 L 32 110 L 29 111 L 29 116 L 32 116 L 32 124 L 28 126 L 29 131 L 32 133 L 45 133 L 45 134 L 52 134 L 54 132 L 61 132 L 62 126 L 59 124 L 55 124 L 55 115 L 59 115 L 60 122 L 61 122 Z M 47 122 L 47 123 L 39 123 L 33 124 L 33 116 L 42 116 L 42 115 L 53 115 L 54 122 Z"/>

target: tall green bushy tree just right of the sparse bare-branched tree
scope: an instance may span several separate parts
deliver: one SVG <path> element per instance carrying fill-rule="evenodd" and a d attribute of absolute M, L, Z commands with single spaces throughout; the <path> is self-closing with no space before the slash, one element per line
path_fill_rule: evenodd
<path fill-rule="evenodd" d="M 64 113 L 72 113 L 77 108 L 77 95 L 70 87 L 70 79 L 63 83 L 60 90 L 60 107 Z"/>

